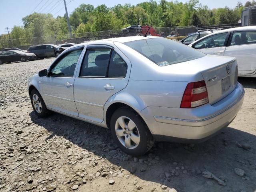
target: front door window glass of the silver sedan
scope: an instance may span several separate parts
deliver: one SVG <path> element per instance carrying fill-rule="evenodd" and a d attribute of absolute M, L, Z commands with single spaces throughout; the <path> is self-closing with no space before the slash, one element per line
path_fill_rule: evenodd
<path fill-rule="evenodd" d="M 62 56 L 51 69 L 51 76 L 73 76 L 81 52 L 82 48 L 70 51 Z"/>

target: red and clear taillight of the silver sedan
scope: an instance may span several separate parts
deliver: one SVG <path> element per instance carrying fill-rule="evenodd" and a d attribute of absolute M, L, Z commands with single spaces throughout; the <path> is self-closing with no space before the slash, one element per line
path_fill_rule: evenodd
<path fill-rule="evenodd" d="M 186 86 L 180 108 L 194 108 L 206 103 L 208 103 L 208 92 L 205 82 L 192 82 Z"/>

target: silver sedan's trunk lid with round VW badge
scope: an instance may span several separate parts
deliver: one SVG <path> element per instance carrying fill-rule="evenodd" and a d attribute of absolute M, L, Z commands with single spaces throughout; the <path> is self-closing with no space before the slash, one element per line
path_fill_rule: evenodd
<path fill-rule="evenodd" d="M 206 55 L 195 60 L 163 66 L 160 69 L 167 74 L 179 74 L 187 82 L 200 81 L 203 77 L 210 104 L 230 94 L 237 83 L 238 69 L 236 59 L 232 57 Z"/>

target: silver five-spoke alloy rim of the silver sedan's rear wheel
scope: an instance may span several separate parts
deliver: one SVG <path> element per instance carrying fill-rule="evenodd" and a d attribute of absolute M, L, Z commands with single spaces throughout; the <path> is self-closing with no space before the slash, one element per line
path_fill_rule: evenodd
<path fill-rule="evenodd" d="M 116 136 L 128 149 L 134 149 L 140 143 L 140 133 L 136 124 L 128 117 L 121 116 L 116 120 Z"/>

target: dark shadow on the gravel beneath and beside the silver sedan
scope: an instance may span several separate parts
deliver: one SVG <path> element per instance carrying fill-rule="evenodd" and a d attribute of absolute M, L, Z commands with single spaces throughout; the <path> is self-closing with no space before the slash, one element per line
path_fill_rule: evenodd
<path fill-rule="evenodd" d="M 34 124 L 44 127 L 53 136 L 66 138 L 74 145 L 104 157 L 112 164 L 131 171 L 137 168 L 134 175 L 145 181 L 165 184 L 178 191 L 254 191 L 256 189 L 256 136 L 228 127 L 210 140 L 195 146 L 177 143 L 156 143 L 152 150 L 134 162 L 130 156 L 112 145 L 110 131 L 90 123 L 54 113 L 48 118 L 38 118 L 30 112 Z M 247 143 L 250 150 L 238 147 Z M 141 159 L 141 160 L 140 160 Z M 153 160 L 153 161 L 152 161 Z M 142 161 L 142 162 L 140 162 Z M 184 168 L 184 170 L 183 170 Z M 248 179 L 242 179 L 234 173 L 234 168 L 245 170 Z M 144 171 L 145 170 L 145 171 Z M 220 186 L 213 179 L 204 178 L 203 171 L 210 171 L 226 181 L 227 186 Z M 165 174 L 170 178 L 166 178 Z M 239 185 L 238 185 L 239 184 Z"/>

